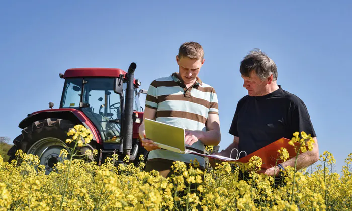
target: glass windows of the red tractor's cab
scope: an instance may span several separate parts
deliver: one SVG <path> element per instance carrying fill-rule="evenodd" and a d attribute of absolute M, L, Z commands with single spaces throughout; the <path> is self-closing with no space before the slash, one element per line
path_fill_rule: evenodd
<path fill-rule="evenodd" d="M 89 104 L 81 108 L 83 113 L 97 127 L 104 142 L 120 143 L 120 95 L 114 92 L 113 84 L 114 78 L 84 78 L 83 88 L 83 78 L 67 78 L 60 107 L 78 109 L 83 89 L 82 102 Z M 125 95 L 126 84 L 123 85 Z M 139 99 L 134 96 L 134 110 L 139 111 Z"/>

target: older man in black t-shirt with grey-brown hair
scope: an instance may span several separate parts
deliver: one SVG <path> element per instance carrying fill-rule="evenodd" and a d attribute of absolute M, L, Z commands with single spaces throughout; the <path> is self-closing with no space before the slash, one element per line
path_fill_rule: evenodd
<path fill-rule="evenodd" d="M 300 98 L 277 84 L 274 61 L 254 50 L 241 62 L 240 72 L 248 95 L 237 104 L 229 131 L 234 136 L 233 143 L 217 154 L 229 157 L 233 148 L 250 154 L 282 137 L 291 139 L 296 131 L 304 131 L 311 134 L 315 143 L 312 151 L 298 156 L 297 169 L 315 163 L 319 159 L 318 142 L 307 108 Z M 278 175 L 280 169 L 294 165 L 292 158 L 259 173 Z"/>

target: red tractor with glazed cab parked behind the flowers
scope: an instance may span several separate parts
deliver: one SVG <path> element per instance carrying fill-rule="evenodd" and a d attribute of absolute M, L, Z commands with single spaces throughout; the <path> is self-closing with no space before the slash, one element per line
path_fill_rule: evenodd
<path fill-rule="evenodd" d="M 146 91 L 138 90 L 141 82 L 134 79 L 135 68 L 132 63 L 127 73 L 113 68 L 76 68 L 59 74 L 65 79 L 60 108 L 53 109 L 50 102 L 50 109 L 29 114 L 20 122 L 22 134 L 13 141 L 9 161 L 21 149 L 37 155 L 50 173 L 54 164 L 62 161 L 60 150 L 71 147 L 65 143 L 68 130 L 82 124 L 92 132 L 93 140 L 78 148 L 80 154 L 97 149 L 99 165 L 112 154 L 121 160 L 130 155 L 137 163 L 139 155 L 147 155 L 138 135 L 143 119 L 139 95 Z"/>

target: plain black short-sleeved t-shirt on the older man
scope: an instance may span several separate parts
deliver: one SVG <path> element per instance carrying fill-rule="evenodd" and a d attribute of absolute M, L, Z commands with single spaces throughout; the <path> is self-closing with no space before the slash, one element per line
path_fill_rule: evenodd
<path fill-rule="evenodd" d="M 282 137 L 291 139 L 296 131 L 316 137 L 304 102 L 279 85 L 265 96 L 239 100 L 229 133 L 239 137 L 239 151 L 248 155 Z"/>

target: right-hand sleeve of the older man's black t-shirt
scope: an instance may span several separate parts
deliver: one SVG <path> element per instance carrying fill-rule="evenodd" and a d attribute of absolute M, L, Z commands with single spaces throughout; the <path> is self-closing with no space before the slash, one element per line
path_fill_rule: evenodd
<path fill-rule="evenodd" d="M 310 120 L 310 116 L 304 102 L 300 102 L 298 105 L 295 105 L 290 116 L 290 132 L 292 133 L 291 137 L 296 131 L 299 133 L 304 131 L 306 134 L 310 134 L 312 137 L 316 137 L 313 124 Z"/>

